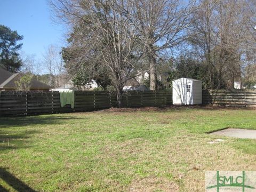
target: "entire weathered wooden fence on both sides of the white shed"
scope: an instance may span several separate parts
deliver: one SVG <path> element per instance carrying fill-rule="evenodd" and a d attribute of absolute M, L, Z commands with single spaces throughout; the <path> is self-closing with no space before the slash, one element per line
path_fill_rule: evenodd
<path fill-rule="evenodd" d="M 203 104 L 256 107 L 256 90 L 203 90 Z M 172 91 L 127 91 L 123 107 L 172 105 Z M 117 107 L 115 91 L 75 91 L 75 105 L 60 107 L 58 91 L 0 91 L 0 116 L 89 111 Z"/>

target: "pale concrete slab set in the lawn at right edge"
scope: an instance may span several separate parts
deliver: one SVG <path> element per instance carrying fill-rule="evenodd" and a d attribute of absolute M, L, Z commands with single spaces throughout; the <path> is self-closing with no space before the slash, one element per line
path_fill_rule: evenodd
<path fill-rule="evenodd" d="M 228 128 L 225 130 L 212 132 L 210 134 L 244 139 L 256 139 L 256 130 Z"/>

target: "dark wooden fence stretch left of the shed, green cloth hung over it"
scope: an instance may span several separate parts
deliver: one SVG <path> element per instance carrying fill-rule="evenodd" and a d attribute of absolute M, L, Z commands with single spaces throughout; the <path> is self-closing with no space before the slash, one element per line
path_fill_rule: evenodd
<path fill-rule="evenodd" d="M 128 91 L 123 107 L 164 107 L 172 105 L 171 91 Z M 114 91 L 75 91 L 75 105 L 60 107 L 58 91 L 1 91 L 0 116 L 89 111 L 117 107 Z"/>

